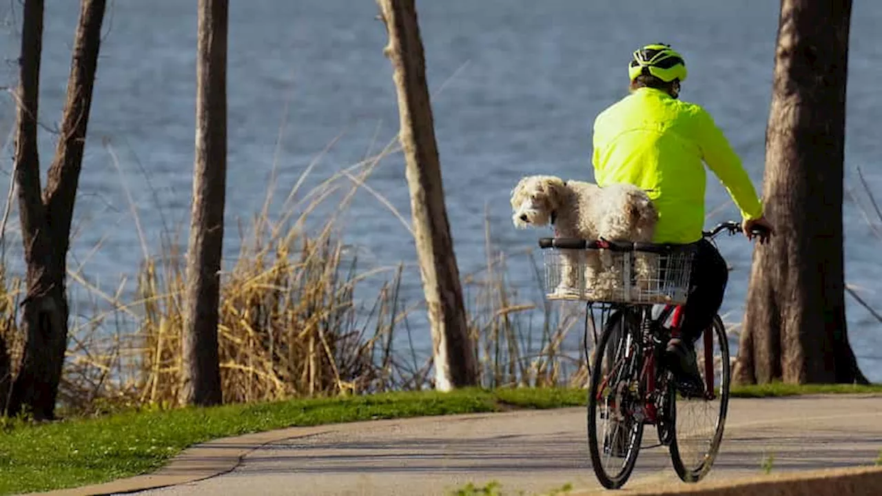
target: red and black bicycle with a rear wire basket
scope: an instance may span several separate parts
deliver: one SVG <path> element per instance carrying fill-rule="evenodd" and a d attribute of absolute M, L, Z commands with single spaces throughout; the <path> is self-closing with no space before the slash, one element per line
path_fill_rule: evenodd
<path fill-rule="evenodd" d="M 724 230 L 730 236 L 742 232 L 739 222 L 722 222 L 702 234 L 714 242 Z M 761 229 L 754 230 L 753 234 L 768 236 Z M 676 384 L 662 363 L 662 353 L 669 339 L 678 332 L 682 305 L 689 294 L 695 244 L 545 237 L 539 240 L 539 245 L 545 253 L 546 297 L 587 301 L 584 343 L 591 381 L 587 438 L 591 464 L 600 483 L 607 489 L 622 487 L 631 477 L 639 450 L 661 446 L 668 447 L 673 468 L 682 481 L 701 480 L 711 470 L 719 452 L 729 407 L 729 341 L 720 316 L 714 316 L 711 327 L 697 342 L 702 343 L 697 355 L 702 388 Z M 607 251 L 610 265 L 605 268 L 616 270 L 619 275 L 614 291 L 595 296 L 584 267 L 579 267 L 575 287 L 568 287 L 564 293 L 558 290 L 563 257 L 567 256 L 566 263 L 572 264 L 573 251 L 580 250 Z M 639 281 L 632 267 L 635 256 L 648 259 L 654 275 Z M 601 311 L 603 331 L 599 341 L 595 306 Z M 594 329 L 593 355 L 587 349 L 589 319 Z M 716 413 L 704 416 L 708 424 L 705 430 L 687 429 L 686 421 L 700 421 L 699 415 L 690 415 L 692 410 L 710 410 L 713 404 L 717 404 Z M 600 436 L 599 421 L 602 423 Z M 611 425 L 609 429 L 607 424 Z M 658 444 L 641 447 L 645 425 L 655 426 Z M 694 447 L 693 456 L 689 453 L 691 447 Z M 605 463 L 603 456 L 617 459 L 617 468 L 610 466 L 609 460 Z"/>

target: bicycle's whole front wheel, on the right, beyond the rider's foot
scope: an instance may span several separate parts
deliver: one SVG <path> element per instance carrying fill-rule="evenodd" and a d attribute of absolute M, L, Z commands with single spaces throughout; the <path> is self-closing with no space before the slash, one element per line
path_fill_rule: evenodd
<path fill-rule="evenodd" d="M 695 343 L 695 350 L 706 394 L 698 398 L 674 395 L 676 427 L 674 439 L 669 445 L 676 475 L 684 482 L 699 482 L 711 470 L 720 451 L 726 424 L 729 409 L 729 342 L 719 316 L 714 316 L 711 327 Z M 711 382 L 708 377 L 713 378 L 712 388 L 707 387 Z"/>

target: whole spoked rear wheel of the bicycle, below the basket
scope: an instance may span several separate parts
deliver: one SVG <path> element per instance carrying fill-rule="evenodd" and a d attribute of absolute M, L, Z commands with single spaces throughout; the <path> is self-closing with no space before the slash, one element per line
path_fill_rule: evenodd
<path fill-rule="evenodd" d="M 639 315 L 625 310 L 609 317 L 594 349 L 588 388 L 588 451 L 603 487 L 617 489 L 631 477 L 643 438 L 639 397 L 642 364 Z"/>

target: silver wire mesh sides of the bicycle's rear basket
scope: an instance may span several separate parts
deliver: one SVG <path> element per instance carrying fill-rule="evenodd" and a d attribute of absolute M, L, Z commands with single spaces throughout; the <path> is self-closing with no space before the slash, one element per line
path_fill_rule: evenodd
<path fill-rule="evenodd" d="M 543 250 L 549 299 L 606 303 L 684 304 L 693 251 Z"/>

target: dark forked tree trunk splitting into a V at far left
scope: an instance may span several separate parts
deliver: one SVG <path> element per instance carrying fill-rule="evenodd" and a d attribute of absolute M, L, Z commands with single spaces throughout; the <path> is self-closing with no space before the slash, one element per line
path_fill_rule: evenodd
<path fill-rule="evenodd" d="M 83 0 L 71 56 L 67 102 L 49 183 L 41 194 L 37 116 L 43 2 L 26 0 L 19 60 L 16 183 L 27 265 L 22 364 L 11 391 L 9 413 L 30 410 L 37 419 L 55 417 L 58 384 L 67 348 L 66 255 L 86 125 L 101 45 L 106 0 Z"/>

